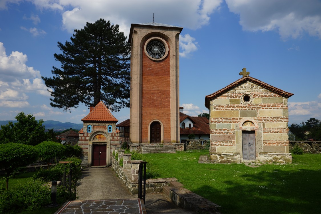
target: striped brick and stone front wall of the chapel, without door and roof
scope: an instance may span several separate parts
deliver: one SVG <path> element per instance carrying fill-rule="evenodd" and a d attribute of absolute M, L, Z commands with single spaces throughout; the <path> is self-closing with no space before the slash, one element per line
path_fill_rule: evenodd
<path fill-rule="evenodd" d="M 289 153 L 287 98 L 247 81 L 211 100 L 210 113 L 211 157 L 242 161 L 242 131 L 255 131 L 256 160 L 262 152 Z M 247 121 L 253 126 L 243 126 Z"/>

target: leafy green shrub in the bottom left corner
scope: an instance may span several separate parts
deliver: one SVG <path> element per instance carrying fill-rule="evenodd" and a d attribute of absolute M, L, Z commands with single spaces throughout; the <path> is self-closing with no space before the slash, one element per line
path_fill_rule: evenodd
<path fill-rule="evenodd" d="M 50 190 L 40 179 L 16 184 L 10 190 L 0 187 L 0 213 L 37 210 L 50 204 Z"/>

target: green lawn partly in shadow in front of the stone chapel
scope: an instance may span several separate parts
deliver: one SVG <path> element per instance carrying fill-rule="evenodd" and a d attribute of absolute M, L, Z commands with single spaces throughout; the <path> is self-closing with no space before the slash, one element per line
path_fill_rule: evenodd
<path fill-rule="evenodd" d="M 321 155 L 293 155 L 293 164 L 252 168 L 199 164 L 208 150 L 145 154 L 154 178 L 176 177 L 185 188 L 228 213 L 321 213 Z M 295 165 L 297 164 L 297 165 Z"/>

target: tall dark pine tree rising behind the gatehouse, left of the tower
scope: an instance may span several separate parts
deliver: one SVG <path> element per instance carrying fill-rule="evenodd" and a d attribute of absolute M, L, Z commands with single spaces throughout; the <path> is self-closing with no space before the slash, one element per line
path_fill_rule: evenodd
<path fill-rule="evenodd" d="M 42 77 L 52 88 L 52 107 L 96 106 L 100 100 L 113 111 L 129 107 L 130 44 L 119 26 L 100 19 L 74 30 L 70 42 L 58 42 L 62 54 L 55 58 L 62 65 L 53 67 L 52 78 Z"/>

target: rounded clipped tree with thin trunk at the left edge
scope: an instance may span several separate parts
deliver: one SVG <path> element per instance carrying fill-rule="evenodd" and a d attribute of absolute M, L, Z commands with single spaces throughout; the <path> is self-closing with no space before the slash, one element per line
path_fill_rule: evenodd
<path fill-rule="evenodd" d="M 12 142 L 0 144 L 0 168 L 6 173 L 6 189 L 14 170 L 35 162 L 37 157 L 37 150 L 33 146 Z"/>

